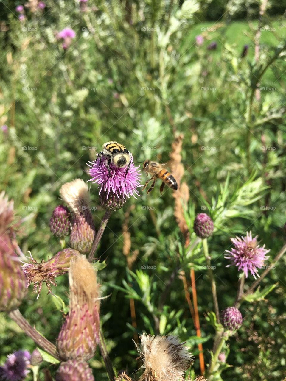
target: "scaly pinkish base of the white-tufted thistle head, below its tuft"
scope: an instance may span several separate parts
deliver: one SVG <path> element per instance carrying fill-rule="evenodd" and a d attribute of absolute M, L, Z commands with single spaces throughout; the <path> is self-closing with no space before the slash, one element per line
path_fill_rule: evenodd
<path fill-rule="evenodd" d="M 88 214 L 89 213 L 89 214 Z M 90 211 L 85 215 L 79 215 L 73 222 L 69 243 L 80 253 L 89 253 L 95 236 L 95 228 Z"/>

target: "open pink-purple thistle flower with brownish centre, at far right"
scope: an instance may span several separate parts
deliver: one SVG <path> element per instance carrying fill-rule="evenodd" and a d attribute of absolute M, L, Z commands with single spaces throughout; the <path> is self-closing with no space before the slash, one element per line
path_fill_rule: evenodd
<path fill-rule="evenodd" d="M 232 262 L 227 267 L 231 265 L 238 266 L 238 271 L 243 270 L 246 278 L 248 271 L 254 276 L 254 279 L 256 279 L 255 275 L 259 277 L 257 267 L 261 269 L 264 265 L 265 259 L 269 258 L 265 254 L 269 253 L 270 249 L 265 249 L 265 245 L 259 247 L 257 236 L 252 238 L 251 232 L 246 232 L 246 237 L 231 238 L 231 242 L 235 247 L 231 248 L 231 251 L 226 250 L 229 255 L 225 256 L 225 258 L 230 259 Z"/>

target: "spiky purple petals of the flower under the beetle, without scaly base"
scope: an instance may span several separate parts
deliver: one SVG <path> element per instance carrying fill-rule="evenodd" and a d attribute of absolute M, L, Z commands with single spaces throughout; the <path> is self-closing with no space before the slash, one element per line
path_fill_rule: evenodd
<path fill-rule="evenodd" d="M 92 177 L 92 179 L 88 181 L 92 181 L 92 184 L 97 183 L 101 186 L 99 195 L 101 194 L 101 192 L 104 191 L 107 192 L 107 197 L 109 193 L 113 193 L 118 198 L 122 197 L 123 199 L 125 199 L 126 197 L 130 198 L 130 196 L 133 196 L 136 199 L 136 195 L 139 195 L 137 188 L 141 186 L 139 182 L 141 175 L 140 170 L 138 170 L 140 165 L 138 167 L 134 166 L 133 156 L 131 156 L 130 161 L 131 165 L 127 173 L 125 173 L 126 167 L 118 168 L 112 165 L 111 163 L 110 177 L 108 174 L 108 169 L 106 167 L 107 160 L 101 160 L 101 163 L 99 163 L 99 159 L 93 162 L 89 162 L 90 164 L 87 165 L 90 166 L 90 169 L 85 172 L 87 172 Z M 126 181 L 124 181 L 125 174 Z"/>

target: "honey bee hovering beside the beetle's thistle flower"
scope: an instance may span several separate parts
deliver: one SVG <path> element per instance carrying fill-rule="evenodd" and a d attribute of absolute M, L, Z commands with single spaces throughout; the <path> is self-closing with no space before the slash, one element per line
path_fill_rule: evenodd
<path fill-rule="evenodd" d="M 145 162 L 143 163 L 143 171 L 152 176 L 151 179 L 148 179 L 145 182 L 143 189 L 146 188 L 149 181 L 153 180 L 151 187 L 147 191 L 147 194 L 153 190 L 157 178 L 162 180 L 162 184 L 160 187 L 161 193 L 163 192 L 165 184 L 167 184 L 167 186 L 171 189 L 177 191 L 177 181 L 174 179 L 174 176 L 172 176 L 172 174 L 170 174 L 170 172 L 164 168 L 164 165 L 165 164 L 153 162 L 152 160 L 145 160 Z"/>

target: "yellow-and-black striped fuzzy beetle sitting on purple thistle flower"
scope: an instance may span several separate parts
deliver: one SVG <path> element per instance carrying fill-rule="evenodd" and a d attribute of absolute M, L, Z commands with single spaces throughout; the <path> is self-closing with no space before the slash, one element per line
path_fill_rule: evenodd
<path fill-rule="evenodd" d="M 97 155 L 96 160 L 99 157 L 99 163 L 101 163 L 102 156 L 108 157 L 107 161 L 107 170 L 109 177 L 111 176 L 110 172 L 110 164 L 112 163 L 117 168 L 124 168 L 127 166 L 127 169 L 125 171 L 125 178 L 124 181 L 126 181 L 126 175 L 130 168 L 130 158 L 131 158 L 131 152 L 129 152 L 122 144 L 117 143 L 116 141 L 110 141 L 106 142 L 102 146 L 102 150 Z"/>

